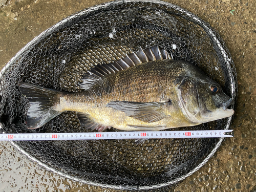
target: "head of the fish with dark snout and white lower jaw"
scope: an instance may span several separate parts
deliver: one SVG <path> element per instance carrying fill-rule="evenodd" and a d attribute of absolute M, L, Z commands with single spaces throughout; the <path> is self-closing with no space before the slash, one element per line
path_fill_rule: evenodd
<path fill-rule="evenodd" d="M 183 113 L 192 122 L 204 123 L 234 114 L 233 109 L 228 109 L 234 101 L 206 75 L 200 75 L 200 78 L 185 77 L 178 90 Z"/>

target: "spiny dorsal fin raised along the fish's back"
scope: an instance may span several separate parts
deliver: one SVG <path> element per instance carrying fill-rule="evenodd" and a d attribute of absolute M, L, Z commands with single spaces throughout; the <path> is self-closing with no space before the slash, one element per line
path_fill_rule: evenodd
<path fill-rule="evenodd" d="M 173 57 L 170 56 L 166 50 L 161 50 L 158 46 L 146 48 L 144 50 L 140 47 L 139 51 L 136 53 L 126 54 L 122 59 L 91 68 L 85 75 L 83 75 L 83 82 L 79 84 L 82 90 L 88 90 L 96 81 L 101 79 L 101 77 L 125 70 L 141 63 L 162 59 L 173 59 Z"/>

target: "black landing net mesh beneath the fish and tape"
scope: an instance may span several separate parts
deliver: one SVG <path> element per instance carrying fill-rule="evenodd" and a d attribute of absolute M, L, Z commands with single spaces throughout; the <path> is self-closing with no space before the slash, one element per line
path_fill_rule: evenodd
<path fill-rule="evenodd" d="M 76 112 L 36 130 L 26 128 L 29 103 L 18 83 L 79 92 L 82 75 L 132 51 L 158 45 L 187 60 L 236 98 L 236 70 L 219 34 L 194 14 L 158 1 L 122 1 L 83 10 L 62 20 L 22 49 L 1 72 L 0 117 L 5 133 L 88 132 Z M 220 130 L 230 119 L 173 130 Z M 109 132 L 119 131 L 116 129 Z M 106 132 L 108 132 L 106 131 Z M 107 133 L 106 133 L 107 134 Z M 154 189 L 184 179 L 206 162 L 217 139 L 19 141 L 35 161 L 76 181 L 120 189 Z M 217 147 L 218 148 L 218 147 Z M 167 184 L 166 184 L 167 183 Z"/>

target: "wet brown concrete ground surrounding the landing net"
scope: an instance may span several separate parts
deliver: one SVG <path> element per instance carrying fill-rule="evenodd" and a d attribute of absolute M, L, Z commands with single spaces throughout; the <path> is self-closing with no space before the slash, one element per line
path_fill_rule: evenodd
<path fill-rule="evenodd" d="M 0 1 L 0 6 L 6 1 Z M 0 67 L 30 40 L 59 20 L 107 1 L 7 1 L 0 8 Z M 216 28 L 234 60 L 238 99 L 231 125 L 234 138 L 175 191 L 256 191 L 256 1 L 167 1 Z M 62 178 L 0 142 L 1 191 L 114 191 Z"/>

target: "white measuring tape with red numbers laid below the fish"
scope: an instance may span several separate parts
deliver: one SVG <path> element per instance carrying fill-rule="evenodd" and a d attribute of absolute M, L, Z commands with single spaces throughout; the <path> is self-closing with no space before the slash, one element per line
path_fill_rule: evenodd
<path fill-rule="evenodd" d="M 0 134 L 0 141 L 169 139 L 233 137 L 233 130 L 104 132 L 104 133 L 18 133 Z"/>

